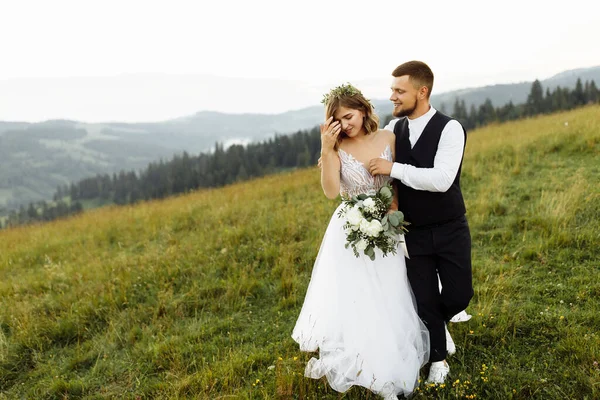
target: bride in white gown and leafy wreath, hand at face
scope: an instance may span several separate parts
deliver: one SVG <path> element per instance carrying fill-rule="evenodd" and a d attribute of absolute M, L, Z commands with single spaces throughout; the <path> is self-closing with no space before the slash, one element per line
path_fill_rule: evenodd
<path fill-rule="evenodd" d="M 320 162 L 325 196 L 380 189 L 390 178 L 373 177 L 365 162 L 378 156 L 392 161 L 394 134 L 378 129 L 371 103 L 350 84 L 333 89 L 323 103 L 327 120 L 321 125 Z M 376 249 L 374 261 L 363 254 L 355 257 L 344 247 L 340 207 L 323 237 L 292 338 L 300 350 L 319 352 L 319 358 L 308 362 L 305 376 L 325 376 L 338 392 L 359 385 L 397 399 L 413 392 L 419 369 L 429 358 L 427 328 L 416 312 L 402 250 L 383 257 Z"/>

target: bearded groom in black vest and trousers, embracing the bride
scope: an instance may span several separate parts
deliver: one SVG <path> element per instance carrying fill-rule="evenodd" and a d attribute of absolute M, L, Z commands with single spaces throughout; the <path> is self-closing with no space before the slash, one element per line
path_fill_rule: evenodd
<path fill-rule="evenodd" d="M 428 382 L 444 382 L 446 324 L 473 297 L 471 236 L 460 190 L 467 134 L 462 125 L 429 104 L 433 72 L 409 61 L 392 72 L 393 115 L 385 127 L 396 135 L 396 162 L 369 162 L 375 175 L 395 179 L 398 209 L 411 223 L 405 236 L 408 279 L 430 337 Z M 442 283 L 440 293 L 438 275 Z"/>

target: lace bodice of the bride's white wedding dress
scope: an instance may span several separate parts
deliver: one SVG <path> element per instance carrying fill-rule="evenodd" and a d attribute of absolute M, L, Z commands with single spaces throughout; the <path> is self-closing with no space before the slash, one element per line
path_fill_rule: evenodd
<path fill-rule="evenodd" d="M 362 162 L 342 149 L 338 149 L 338 154 L 342 164 L 340 171 L 340 194 L 342 195 L 356 196 L 377 191 L 391 180 L 387 175 L 371 175 Z M 393 161 L 390 145 L 386 146 L 379 157 Z"/>

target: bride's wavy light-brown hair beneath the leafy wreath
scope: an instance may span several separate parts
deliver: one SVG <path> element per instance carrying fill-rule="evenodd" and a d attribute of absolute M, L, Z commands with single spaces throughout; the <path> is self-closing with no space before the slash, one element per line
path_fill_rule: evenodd
<path fill-rule="evenodd" d="M 379 117 L 373 111 L 373 105 L 360 90 L 350 84 L 332 89 L 328 95 L 324 96 L 323 103 L 325 103 L 325 119 L 334 116 L 340 107 L 345 107 L 362 111 L 364 114 L 363 127 L 367 135 L 379 129 Z M 343 132 L 338 136 L 336 150 L 345 136 L 346 134 Z"/>

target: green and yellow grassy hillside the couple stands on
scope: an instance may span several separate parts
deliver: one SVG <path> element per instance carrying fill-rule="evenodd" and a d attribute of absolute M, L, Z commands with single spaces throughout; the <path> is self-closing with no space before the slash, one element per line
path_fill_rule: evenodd
<path fill-rule="evenodd" d="M 599 115 L 470 133 L 473 318 L 416 398 L 600 398 Z M 311 168 L 0 231 L 0 399 L 375 399 L 290 338 L 336 206 Z"/>

